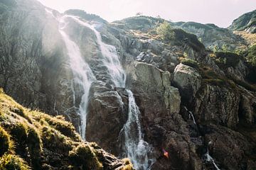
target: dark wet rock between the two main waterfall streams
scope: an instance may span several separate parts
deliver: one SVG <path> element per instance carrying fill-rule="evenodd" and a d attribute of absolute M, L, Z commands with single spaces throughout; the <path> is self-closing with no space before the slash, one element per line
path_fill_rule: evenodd
<path fill-rule="evenodd" d="M 92 84 L 87 113 L 86 140 L 97 142 L 115 155 L 122 152 L 119 133 L 127 121 L 128 94 L 102 83 Z"/>

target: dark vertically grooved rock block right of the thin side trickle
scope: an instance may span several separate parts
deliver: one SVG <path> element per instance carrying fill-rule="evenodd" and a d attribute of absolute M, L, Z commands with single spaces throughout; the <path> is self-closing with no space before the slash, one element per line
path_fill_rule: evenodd
<path fill-rule="evenodd" d="M 198 123 L 213 122 L 235 127 L 238 124 L 240 95 L 223 86 L 202 86 L 196 97 Z"/>

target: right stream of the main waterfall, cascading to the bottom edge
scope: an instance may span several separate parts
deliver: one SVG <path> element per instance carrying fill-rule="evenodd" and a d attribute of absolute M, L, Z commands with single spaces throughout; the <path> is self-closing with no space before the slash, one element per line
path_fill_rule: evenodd
<path fill-rule="evenodd" d="M 119 62 L 116 48 L 102 42 L 101 35 L 95 27 L 90 26 L 90 24 L 81 21 L 75 16 L 70 17 L 74 18 L 75 21 L 80 23 L 82 26 L 93 30 L 102 54 L 102 62 L 105 67 L 107 67 L 114 86 L 125 88 L 126 74 L 122 68 L 122 64 Z M 139 122 L 140 112 L 135 102 L 134 95 L 132 94 L 132 91 L 128 89 L 126 91 L 129 96 L 129 113 L 127 123 L 124 125 L 122 132 L 124 132 L 124 147 L 127 157 L 131 159 L 135 169 L 150 169 L 150 166 L 154 163 L 154 159 L 149 159 L 148 157 L 152 152 L 152 149 L 149 144 L 143 140 L 142 128 Z M 119 97 L 119 99 L 122 100 L 121 97 Z"/>

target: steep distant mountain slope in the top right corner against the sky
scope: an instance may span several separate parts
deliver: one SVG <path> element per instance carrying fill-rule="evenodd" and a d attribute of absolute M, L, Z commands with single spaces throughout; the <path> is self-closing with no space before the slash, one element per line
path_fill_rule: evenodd
<path fill-rule="evenodd" d="M 256 10 L 245 13 L 233 21 L 228 27 L 230 30 L 245 30 L 247 33 L 256 33 Z"/>

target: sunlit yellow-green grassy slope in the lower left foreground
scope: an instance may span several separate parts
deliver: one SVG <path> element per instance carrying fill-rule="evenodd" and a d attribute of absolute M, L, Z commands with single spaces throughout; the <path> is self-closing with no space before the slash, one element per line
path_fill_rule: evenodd
<path fill-rule="evenodd" d="M 82 142 L 62 116 L 23 108 L 0 89 L 0 169 L 129 170 L 132 164 Z"/>

